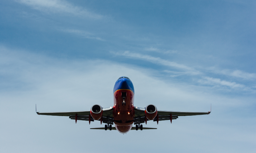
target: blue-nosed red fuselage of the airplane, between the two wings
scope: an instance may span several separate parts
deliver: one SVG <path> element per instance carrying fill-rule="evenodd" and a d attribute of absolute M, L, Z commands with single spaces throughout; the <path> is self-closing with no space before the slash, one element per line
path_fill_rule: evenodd
<path fill-rule="evenodd" d="M 120 133 L 131 130 L 134 118 L 134 87 L 128 77 L 120 77 L 114 86 L 113 117 Z"/>

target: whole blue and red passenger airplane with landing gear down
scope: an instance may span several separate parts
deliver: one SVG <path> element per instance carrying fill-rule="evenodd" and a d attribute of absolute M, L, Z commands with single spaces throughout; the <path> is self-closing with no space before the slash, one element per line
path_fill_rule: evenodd
<path fill-rule="evenodd" d="M 90 111 L 77 112 L 52 112 L 52 113 L 36 113 L 38 115 L 52 116 L 69 116 L 71 120 L 91 121 L 99 120 L 100 124 L 105 123 L 105 128 L 90 128 L 90 129 L 105 129 L 117 130 L 122 134 L 130 130 L 156 129 L 143 128 L 142 123 L 149 120 L 156 121 L 157 124 L 162 120 L 178 119 L 179 116 L 205 115 L 210 112 L 174 112 L 174 111 L 159 111 L 155 105 L 148 105 L 145 108 L 134 106 L 134 87 L 132 81 L 128 77 L 119 77 L 114 85 L 114 105 L 108 108 L 102 108 L 100 105 L 93 105 Z M 115 124 L 115 127 L 112 125 Z M 135 127 L 132 127 L 132 124 Z"/>

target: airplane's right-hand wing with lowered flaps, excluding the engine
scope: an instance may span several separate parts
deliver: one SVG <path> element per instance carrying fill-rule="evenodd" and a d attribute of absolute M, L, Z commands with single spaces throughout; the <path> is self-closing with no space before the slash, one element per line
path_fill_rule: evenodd
<path fill-rule="evenodd" d="M 134 124 L 139 124 L 139 121 L 140 123 L 144 123 L 146 120 L 145 108 L 134 107 L 134 110 L 135 110 L 135 117 L 133 120 Z M 179 118 L 178 116 L 206 115 L 210 113 L 211 112 L 176 112 L 176 111 L 158 111 L 157 110 L 157 116 L 154 118 L 153 121 L 171 120 L 171 114 L 172 114 L 172 120 L 176 120 L 177 118 Z M 157 121 L 157 124 L 158 124 L 158 121 Z"/>

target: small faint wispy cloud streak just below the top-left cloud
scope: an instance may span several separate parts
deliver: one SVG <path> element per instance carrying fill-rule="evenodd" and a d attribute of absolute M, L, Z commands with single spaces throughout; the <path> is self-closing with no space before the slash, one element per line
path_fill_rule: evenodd
<path fill-rule="evenodd" d="M 94 34 L 83 31 L 83 30 L 77 30 L 77 29 L 59 29 L 59 30 L 65 33 L 75 34 L 87 39 L 96 39 L 96 40 L 105 41 L 104 39 L 101 39 L 100 37 L 97 37 Z"/>

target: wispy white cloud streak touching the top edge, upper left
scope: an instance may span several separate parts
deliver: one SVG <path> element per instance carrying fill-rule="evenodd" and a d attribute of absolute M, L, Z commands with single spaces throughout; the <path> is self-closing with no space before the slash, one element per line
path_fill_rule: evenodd
<path fill-rule="evenodd" d="M 101 19 L 102 15 L 92 13 L 87 9 L 75 6 L 63 0 L 18 0 L 21 4 L 28 5 L 35 10 L 52 12 L 52 13 L 68 13 L 76 16 L 84 16 L 87 18 Z"/>

